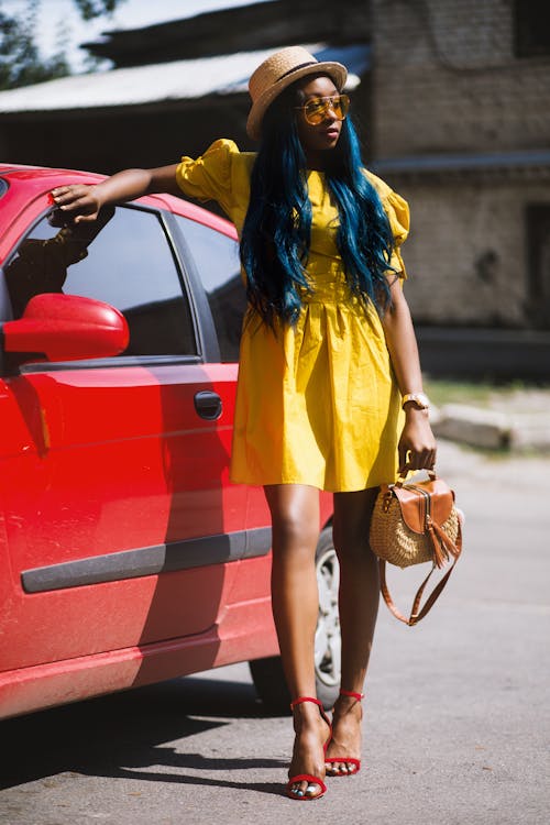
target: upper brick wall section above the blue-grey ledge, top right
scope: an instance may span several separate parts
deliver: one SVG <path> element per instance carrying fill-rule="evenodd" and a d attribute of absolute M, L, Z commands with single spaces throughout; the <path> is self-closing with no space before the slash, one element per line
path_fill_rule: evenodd
<path fill-rule="evenodd" d="M 514 56 L 512 0 L 373 0 L 376 154 L 538 148 L 550 58 Z"/>

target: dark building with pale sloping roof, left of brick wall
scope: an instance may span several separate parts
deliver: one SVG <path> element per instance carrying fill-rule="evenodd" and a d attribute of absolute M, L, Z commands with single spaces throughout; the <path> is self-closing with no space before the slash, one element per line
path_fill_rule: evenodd
<path fill-rule="evenodd" d="M 0 92 L 0 156 L 109 174 L 174 163 L 220 136 L 252 148 L 248 79 L 273 51 L 298 43 L 345 63 L 348 91 L 367 111 L 366 12 L 364 0 L 272 0 L 108 32 L 87 47 L 112 72 Z"/>

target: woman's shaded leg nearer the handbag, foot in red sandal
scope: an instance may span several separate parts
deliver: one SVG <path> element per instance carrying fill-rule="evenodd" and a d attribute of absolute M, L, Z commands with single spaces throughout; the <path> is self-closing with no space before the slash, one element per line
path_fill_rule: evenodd
<path fill-rule="evenodd" d="M 377 488 L 334 494 L 334 548 L 340 562 L 340 628 L 342 678 L 345 691 L 363 692 L 378 613 L 380 578 L 369 546 L 371 516 Z M 334 705 L 333 738 L 327 757 L 361 758 L 361 703 L 340 696 Z M 352 762 L 334 762 L 330 773 L 349 773 Z"/>

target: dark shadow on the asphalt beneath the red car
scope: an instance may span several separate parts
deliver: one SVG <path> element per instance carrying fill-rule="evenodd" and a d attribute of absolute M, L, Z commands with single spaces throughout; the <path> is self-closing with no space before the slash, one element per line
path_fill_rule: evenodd
<path fill-rule="evenodd" d="M 6 759 L 0 789 L 64 772 L 242 788 L 242 783 L 178 771 L 282 763 L 182 754 L 169 744 L 231 724 L 233 718 L 266 715 L 251 684 L 186 678 L 6 719 L 0 723 Z M 152 766 L 154 771 L 147 771 Z M 276 787 L 272 790 L 265 784 L 255 790 L 275 793 Z"/>

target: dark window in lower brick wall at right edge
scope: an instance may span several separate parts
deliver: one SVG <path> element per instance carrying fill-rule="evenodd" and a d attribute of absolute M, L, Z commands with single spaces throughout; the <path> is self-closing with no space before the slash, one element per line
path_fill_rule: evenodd
<path fill-rule="evenodd" d="M 550 204 L 527 207 L 527 314 L 537 329 L 550 329 Z"/>

